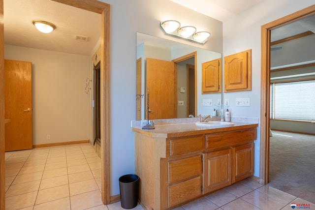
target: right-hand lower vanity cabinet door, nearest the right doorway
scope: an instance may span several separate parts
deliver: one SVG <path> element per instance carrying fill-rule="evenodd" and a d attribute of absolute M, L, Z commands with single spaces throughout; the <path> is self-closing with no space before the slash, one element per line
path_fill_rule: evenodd
<path fill-rule="evenodd" d="M 254 143 L 233 148 L 232 156 L 232 183 L 253 175 Z"/>

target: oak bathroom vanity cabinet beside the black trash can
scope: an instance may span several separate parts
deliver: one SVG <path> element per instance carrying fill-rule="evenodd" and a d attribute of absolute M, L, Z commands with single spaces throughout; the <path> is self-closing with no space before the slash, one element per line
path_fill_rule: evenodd
<path fill-rule="evenodd" d="M 207 129 L 186 123 L 154 131 L 132 128 L 141 205 L 172 209 L 252 176 L 256 127 L 242 123 Z"/>

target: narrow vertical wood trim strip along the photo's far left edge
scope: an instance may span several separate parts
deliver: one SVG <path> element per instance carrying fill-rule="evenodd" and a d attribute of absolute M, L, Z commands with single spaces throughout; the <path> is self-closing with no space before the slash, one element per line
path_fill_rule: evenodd
<path fill-rule="evenodd" d="M 4 26 L 3 0 L 0 0 L 0 210 L 5 210 L 5 137 L 4 137 Z"/>

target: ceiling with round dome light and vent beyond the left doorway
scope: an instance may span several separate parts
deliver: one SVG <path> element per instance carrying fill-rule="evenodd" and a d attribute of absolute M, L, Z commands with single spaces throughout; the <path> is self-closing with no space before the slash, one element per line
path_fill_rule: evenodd
<path fill-rule="evenodd" d="M 52 0 L 4 0 L 4 43 L 79 55 L 91 55 L 100 38 L 100 14 Z M 41 33 L 33 20 L 56 25 Z M 88 41 L 76 39 L 87 36 Z"/>

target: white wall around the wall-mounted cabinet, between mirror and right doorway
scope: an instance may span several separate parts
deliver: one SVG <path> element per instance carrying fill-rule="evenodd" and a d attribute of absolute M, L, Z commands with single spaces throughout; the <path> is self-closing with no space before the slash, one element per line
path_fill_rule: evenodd
<path fill-rule="evenodd" d="M 314 0 L 265 0 L 223 22 L 223 57 L 252 49 L 252 91 L 224 93 L 233 117 L 260 118 L 261 26 L 314 4 Z M 236 98 L 250 97 L 250 107 L 236 107 Z M 259 177 L 260 125 L 255 141 L 254 176 Z"/>

